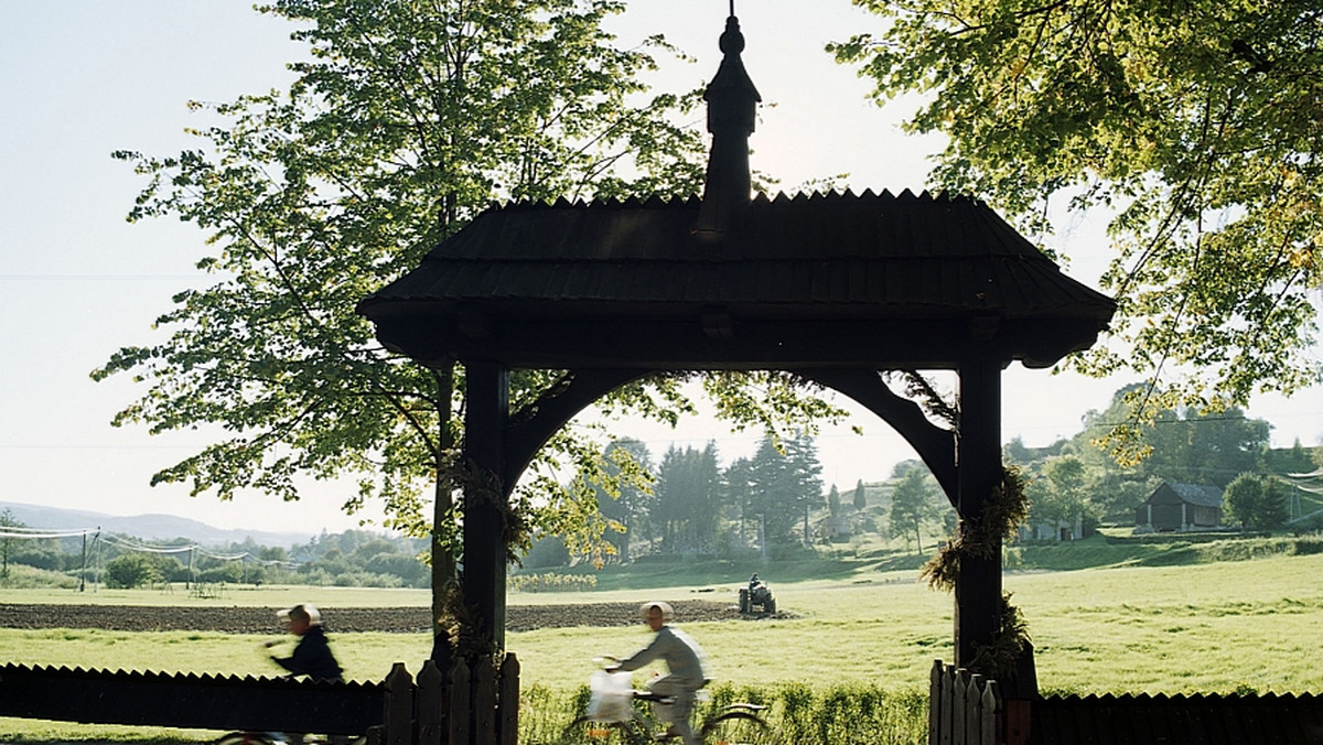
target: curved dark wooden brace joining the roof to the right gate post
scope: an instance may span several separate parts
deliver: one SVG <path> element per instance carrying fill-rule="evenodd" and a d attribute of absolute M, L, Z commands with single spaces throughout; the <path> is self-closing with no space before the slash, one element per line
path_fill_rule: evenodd
<path fill-rule="evenodd" d="M 877 414 L 900 433 L 918 457 L 933 471 L 933 478 L 946 492 L 946 499 L 958 507 L 955 470 L 955 433 L 927 421 L 918 404 L 897 396 L 882 382 L 877 371 L 869 369 L 811 369 L 794 371 L 795 374 L 826 385 L 849 396 Z"/>

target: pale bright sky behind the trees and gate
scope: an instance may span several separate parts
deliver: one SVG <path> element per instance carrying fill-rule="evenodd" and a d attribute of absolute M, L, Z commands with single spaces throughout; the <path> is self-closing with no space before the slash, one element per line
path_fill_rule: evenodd
<path fill-rule="evenodd" d="M 695 58 L 665 65 L 655 86 L 679 93 L 710 79 L 728 0 L 627 5 L 611 26 L 623 45 L 664 33 Z M 185 127 L 202 123 L 185 102 L 286 87 L 292 78 L 284 64 L 303 56 L 288 40 L 288 24 L 237 0 L 7 0 L 3 9 L 0 502 L 172 513 L 221 528 L 356 527 L 359 517 L 340 511 L 348 496 L 341 484 L 308 484 L 295 504 L 261 494 L 221 503 L 191 498 L 183 486 L 149 487 L 155 471 L 196 453 L 208 433 L 149 437 L 139 426 L 111 427 L 114 414 L 146 388 L 124 376 L 89 377 L 118 348 L 161 339 L 152 322 L 171 308 L 171 296 L 208 283 L 193 269 L 206 251 L 201 232 L 173 220 L 124 221 L 144 183 L 110 153 L 177 153 L 194 144 Z M 902 134 L 898 124 L 913 102 L 876 106 L 867 81 L 822 52 L 828 41 L 877 30 L 876 17 L 847 0 L 744 0 L 737 12 L 745 66 L 763 98 L 751 138 L 754 168 L 778 177 L 785 191 L 841 173 L 856 192 L 923 188 L 927 156 L 941 139 Z M 1103 226 L 1105 216 L 1070 218 L 1046 241 L 1070 257 L 1066 273 L 1090 286 L 1107 261 Z M 1003 374 L 1003 437 L 1031 446 L 1069 437 L 1126 382 L 1012 365 Z M 819 438 L 823 480 L 841 490 L 884 479 L 896 462 L 914 457 L 884 422 L 853 409 Z M 1320 389 L 1257 398 L 1249 414 L 1274 425 L 1274 445 L 1323 442 Z M 864 434 L 853 434 L 855 426 Z M 714 441 L 729 462 L 757 443 L 757 434 L 729 433 L 709 417 L 676 430 L 613 422 L 611 431 L 643 439 L 658 458 L 672 443 Z"/>

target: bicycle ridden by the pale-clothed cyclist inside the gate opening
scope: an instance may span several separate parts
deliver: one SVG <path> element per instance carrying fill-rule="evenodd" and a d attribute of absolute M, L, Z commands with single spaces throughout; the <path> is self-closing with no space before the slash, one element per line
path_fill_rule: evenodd
<path fill-rule="evenodd" d="M 664 723 L 639 711 L 635 701 L 673 704 L 675 697 L 651 691 L 626 689 L 618 692 L 628 707 L 603 715 L 585 713 L 565 728 L 561 745 L 648 745 L 652 742 L 679 742 L 680 736 L 668 732 Z M 623 701 L 618 701 L 623 703 Z M 708 715 L 697 728 L 704 745 L 773 745 L 775 732 L 763 721 L 761 712 L 767 707 L 737 701 Z M 691 715 L 692 716 L 692 715 Z"/>

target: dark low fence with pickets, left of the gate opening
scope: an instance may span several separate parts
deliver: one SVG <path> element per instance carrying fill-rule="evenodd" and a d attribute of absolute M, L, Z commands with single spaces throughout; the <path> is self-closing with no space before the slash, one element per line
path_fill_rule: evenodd
<path fill-rule="evenodd" d="M 329 683 L 0 664 L 0 716 L 214 730 L 366 733 L 374 745 L 516 745 L 519 660 L 507 654 L 414 679 Z"/>

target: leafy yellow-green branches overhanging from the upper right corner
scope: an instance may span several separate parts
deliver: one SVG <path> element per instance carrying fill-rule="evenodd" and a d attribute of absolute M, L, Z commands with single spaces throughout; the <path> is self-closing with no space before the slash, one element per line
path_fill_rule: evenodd
<path fill-rule="evenodd" d="M 908 128 L 947 136 L 938 187 L 1031 236 L 1058 206 L 1111 212 L 1118 312 L 1073 364 L 1147 380 L 1103 441 L 1117 458 L 1162 409 L 1323 380 L 1318 3 L 853 1 L 885 30 L 830 49 L 878 101 L 923 95 Z"/>

